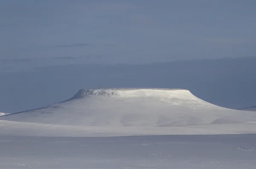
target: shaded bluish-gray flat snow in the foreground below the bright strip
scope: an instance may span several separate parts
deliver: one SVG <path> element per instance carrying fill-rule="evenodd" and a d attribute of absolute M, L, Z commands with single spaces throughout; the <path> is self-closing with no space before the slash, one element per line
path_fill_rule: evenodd
<path fill-rule="evenodd" d="M 256 135 L 0 135 L 0 168 L 256 168 Z"/>

